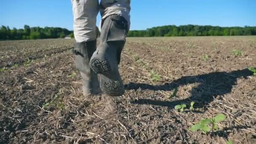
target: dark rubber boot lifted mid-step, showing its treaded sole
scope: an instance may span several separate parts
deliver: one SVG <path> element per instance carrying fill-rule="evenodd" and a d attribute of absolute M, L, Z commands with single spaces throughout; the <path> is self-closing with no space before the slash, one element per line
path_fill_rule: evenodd
<path fill-rule="evenodd" d="M 124 93 L 118 64 L 127 32 L 128 24 L 122 16 L 111 15 L 104 19 L 100 44 L 90 61 L 93 71 L 100 74 L 101 91 L 109 96 L 121 96 Z"/>

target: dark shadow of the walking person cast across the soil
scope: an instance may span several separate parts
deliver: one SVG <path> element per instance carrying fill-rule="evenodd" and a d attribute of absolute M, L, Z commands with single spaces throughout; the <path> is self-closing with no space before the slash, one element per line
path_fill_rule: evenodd
<path fill-rule="evenodd" d="M 200 83 L 197 87 L 192 88 L 191 96 L 187 99 L 178 101 L 155 101 L 151 99 L 139 99 L 131 101 L 132 104 L 151 104 L 163 107 L 174 108 L 177 104 L 189 104 L 190 101 L 196 101 L 195 107 L 201 108 L 207 106 L 216 96 L 221 99 L 224 94 L 232 91 L 233 85 L 236 85 L 237 78 L 253 75 L 248 69 L 236 70 L 232 72 L 212 72 L 203 75 L 185 76 L 171 83 L 164 85 L 149 85 L 145 83 L 128 83 L 125 85 L 126 90 L 151 90 L 151 91 L 171 91 L 181 85 Z"/>

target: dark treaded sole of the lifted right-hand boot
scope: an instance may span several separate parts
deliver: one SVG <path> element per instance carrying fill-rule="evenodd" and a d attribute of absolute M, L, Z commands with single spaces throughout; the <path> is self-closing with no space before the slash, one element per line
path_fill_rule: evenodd
<path fill-rule="evenodd" d="M 124 85 L 119 72 L 113 72 L 108 61 L 100 58 L 93 58 L 90 61 L 90 67 L 100 76 L 100 88 L 103 93 L 109 96 L 121 96 L 124 93 Z M 115 73 L 118 73 L 116 75 Z M 117 76 L 117 80 L 113 80 L 110 76 Z"/>

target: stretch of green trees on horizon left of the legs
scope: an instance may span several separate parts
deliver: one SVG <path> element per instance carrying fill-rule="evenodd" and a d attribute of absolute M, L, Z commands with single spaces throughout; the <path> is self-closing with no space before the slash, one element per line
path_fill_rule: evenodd
<path fill-rule="evenodd" d="M 74 37 L 73 31 L 60 27 L 29 27 L 24 25 L 24 29 L 10 29 L 8 26 L 0 27 L 0 40 L 35 40 L 46 38 Z"/>

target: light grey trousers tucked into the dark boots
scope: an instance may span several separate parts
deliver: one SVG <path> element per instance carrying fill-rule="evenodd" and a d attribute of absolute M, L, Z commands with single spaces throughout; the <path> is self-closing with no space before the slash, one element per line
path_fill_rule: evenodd
<path fill-rule="evenodd" d="M 96 40 L 96 16 L 101 20 L 110 15 L 123 16 L 130 26 L 131 0 L 71 0 L 74 16 L 74 36 L 77 43 Z"/>

